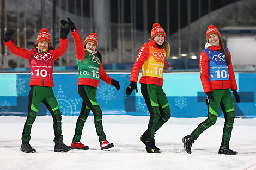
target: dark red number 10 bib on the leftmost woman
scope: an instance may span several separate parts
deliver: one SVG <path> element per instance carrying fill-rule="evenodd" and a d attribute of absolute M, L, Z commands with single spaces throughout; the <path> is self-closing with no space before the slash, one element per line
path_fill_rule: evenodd
<path fill-rule="evenodd" d="M 35 49 L 31 51 L 29 58 L 31 78 L 36 79 L 53 79 L 53 58 L 52 51 L 38 53 Z"/>

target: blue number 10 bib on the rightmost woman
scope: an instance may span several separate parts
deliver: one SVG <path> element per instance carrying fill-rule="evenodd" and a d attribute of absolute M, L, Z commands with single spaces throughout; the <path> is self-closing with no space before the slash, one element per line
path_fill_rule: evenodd
<path fill-rule="evenodd" d="M 222 51 L 212 51 L 211 49 L 204 49 L 204 51 L 209 58 L 209 80 L 229 80 L 225 54 Z"/>

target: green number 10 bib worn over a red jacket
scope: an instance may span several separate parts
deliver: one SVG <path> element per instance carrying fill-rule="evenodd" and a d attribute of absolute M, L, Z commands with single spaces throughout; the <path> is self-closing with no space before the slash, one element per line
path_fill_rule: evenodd
<path fill-rule="evenodd" d="M 100 80 L 100 59 L 97 53 L 93 54 L 86 50 L 86 55 L 80 61 L 77 59 L 78 78 L 90 78 Z"/>

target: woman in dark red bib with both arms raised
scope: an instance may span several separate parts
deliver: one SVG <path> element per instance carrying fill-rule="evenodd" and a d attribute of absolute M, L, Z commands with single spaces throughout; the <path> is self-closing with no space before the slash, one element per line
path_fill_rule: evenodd
<path fill-rule="evenodd" d="M 34 48 L 31 50 L 19 48 L 10 40 L 14 30 L 7 29 L 4 34 L 3 41 L 7 48 L 17 56 L 29 60 L 31 67 L 31 79 L 29 86 L 31 90 L 28 95 L 28 117 L 22 132 L 22 144 L 20 150 L 23 152 L 34 153 L 35 149 L 31 147 L 29 141 L 31 140 L 31 128 L 35 121 L 36 114 L 39 109 L 40 103 L 44 103 L 50 111 L 53 118 L 54 130 L 54 151 L 55 152 L 68 152 L 71 147 L 63 143 L 62 136 L 62 113 L 59 110 L 56 97 L 54 96 L 53 87 L 53 61 L 62 56 L 67 48 L 68 39 L 67 35 L 70 31 L 70 26 L 66 24 L 60 29 L 60 46 L 54 49 L 50 45 L 50 34 L 46 28 L 42 28 Z"/>

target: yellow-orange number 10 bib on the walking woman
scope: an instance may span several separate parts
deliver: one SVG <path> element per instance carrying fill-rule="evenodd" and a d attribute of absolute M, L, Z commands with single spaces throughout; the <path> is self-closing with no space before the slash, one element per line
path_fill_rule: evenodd
<path fill-rule="evenodd" d="M 149 57 L 142 65 L 142 76 L 163 78 L 163 66 L 166 59 L 164 49 L 149 45 Z"/>

